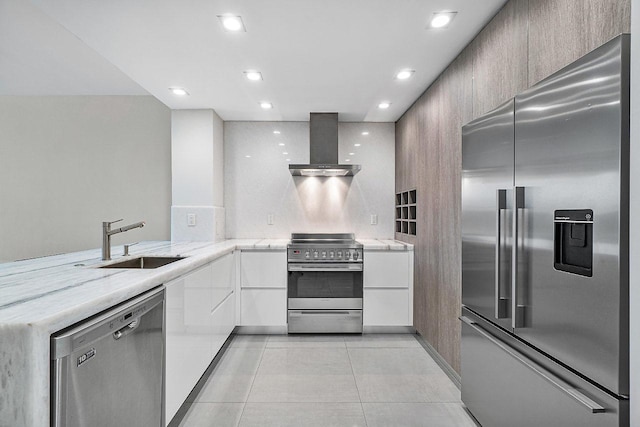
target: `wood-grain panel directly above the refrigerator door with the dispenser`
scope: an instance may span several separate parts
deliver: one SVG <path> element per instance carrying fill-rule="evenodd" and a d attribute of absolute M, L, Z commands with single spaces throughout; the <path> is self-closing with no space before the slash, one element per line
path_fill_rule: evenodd
<path fill-rule="evenodd" d="M 529 0 L 529 85 L 630 28 L 630 0 Z"/>

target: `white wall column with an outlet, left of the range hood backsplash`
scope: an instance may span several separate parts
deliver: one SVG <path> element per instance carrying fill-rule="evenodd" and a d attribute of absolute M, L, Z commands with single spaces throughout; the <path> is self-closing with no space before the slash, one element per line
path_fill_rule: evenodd
<path fill-rule="evenodd" d="M 172 241 L 224 239 L 223 135 L 213 110 L 171 112 Z"/>

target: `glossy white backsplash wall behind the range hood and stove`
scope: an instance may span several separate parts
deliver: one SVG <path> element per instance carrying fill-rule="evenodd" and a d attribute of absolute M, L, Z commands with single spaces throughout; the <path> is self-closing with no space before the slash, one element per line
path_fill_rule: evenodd
<path fill-rule="evenodd" d="M 308 122 L 225 122 L 227 237 L 354 232 L 393 238 L 395 124 L 340 123 L 338 139 L 340 163 L 351 158 L 362 166 L 355 177 L 294 178 L 288 164 L 309 162 Z M 370 224 L 372 214 L 377 225 Z"/>

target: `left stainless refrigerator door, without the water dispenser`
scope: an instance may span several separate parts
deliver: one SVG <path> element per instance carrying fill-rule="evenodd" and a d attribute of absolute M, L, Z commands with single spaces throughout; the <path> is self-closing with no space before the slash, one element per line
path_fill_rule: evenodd
<path fill-rule="evenodd" d="M 509 328 L 513 100 L 462 129 L 462 303 Z"/>

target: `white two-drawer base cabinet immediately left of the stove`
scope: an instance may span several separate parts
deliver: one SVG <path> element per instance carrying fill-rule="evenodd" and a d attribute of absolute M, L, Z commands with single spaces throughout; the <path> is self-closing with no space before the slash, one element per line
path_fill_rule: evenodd
<path fill-rule="evenodd" d="M 240 283 L 240 325 L 286 327 L 286 251 L 242 251 Z"/>

